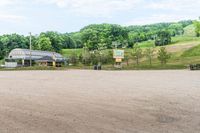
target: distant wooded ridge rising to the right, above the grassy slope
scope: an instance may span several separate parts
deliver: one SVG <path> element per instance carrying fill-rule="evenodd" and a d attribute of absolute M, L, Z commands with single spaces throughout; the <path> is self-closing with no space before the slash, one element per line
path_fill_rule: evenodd
<path fill-rule="evenodd" d="M 129 45 L 134 43 L 155 40 L 157 34 L 160 31 L 168 30 L 170 36 L 182 35 L 184 33 L 184 27 L 191 25 L 192 21 L 180 21 L 178 23 L 158 23 L 144 26 L 128 26 L 129 31 Z"/>

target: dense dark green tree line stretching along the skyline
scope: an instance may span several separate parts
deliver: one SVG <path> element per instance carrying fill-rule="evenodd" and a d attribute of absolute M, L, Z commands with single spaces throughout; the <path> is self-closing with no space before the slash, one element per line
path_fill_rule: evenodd
<path fill-rule="evenodd" d="M 32 36 L 33 49 L 60 52 L 62 49 L 87 48 L 89 51 L 111 48 L 132 48 L 138 42 L 155 40 L 158 46 L 167 45 L 171 37 L 182 35 L 191 20 L 178 23 L 159 23 L 123 27 L 116 24 L 92 24 L 79 32 L 42 32 Z M 9 34 L 0 36 L 0 59 L 14 48 L 29 48 L 29 36 Z"/>

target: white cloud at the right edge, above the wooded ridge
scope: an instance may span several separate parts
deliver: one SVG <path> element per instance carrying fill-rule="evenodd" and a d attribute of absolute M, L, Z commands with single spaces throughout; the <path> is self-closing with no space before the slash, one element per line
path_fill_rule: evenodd
<path fill-rule="evenodd" d="M 177 22 L 181 20 L 197 19 L 200 15 L 199 0 L 160 0 L 150 1 L 144 7 L 152 11 L 150 16 L 137 17 L 125 25 L 144 25 L 160 22 Z"/>

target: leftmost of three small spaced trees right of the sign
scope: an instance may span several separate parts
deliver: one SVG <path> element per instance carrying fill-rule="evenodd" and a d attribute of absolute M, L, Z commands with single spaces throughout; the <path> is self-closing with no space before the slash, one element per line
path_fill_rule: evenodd
<path fill-rule="evenodd" d="M 140 58 L 142 58 L 142 49 L 138 46 L 138 44 L 133 46 L 133 50 L 131 53 L 134 60 L 136 60 L 137 65 L 139 65 Z"/>

